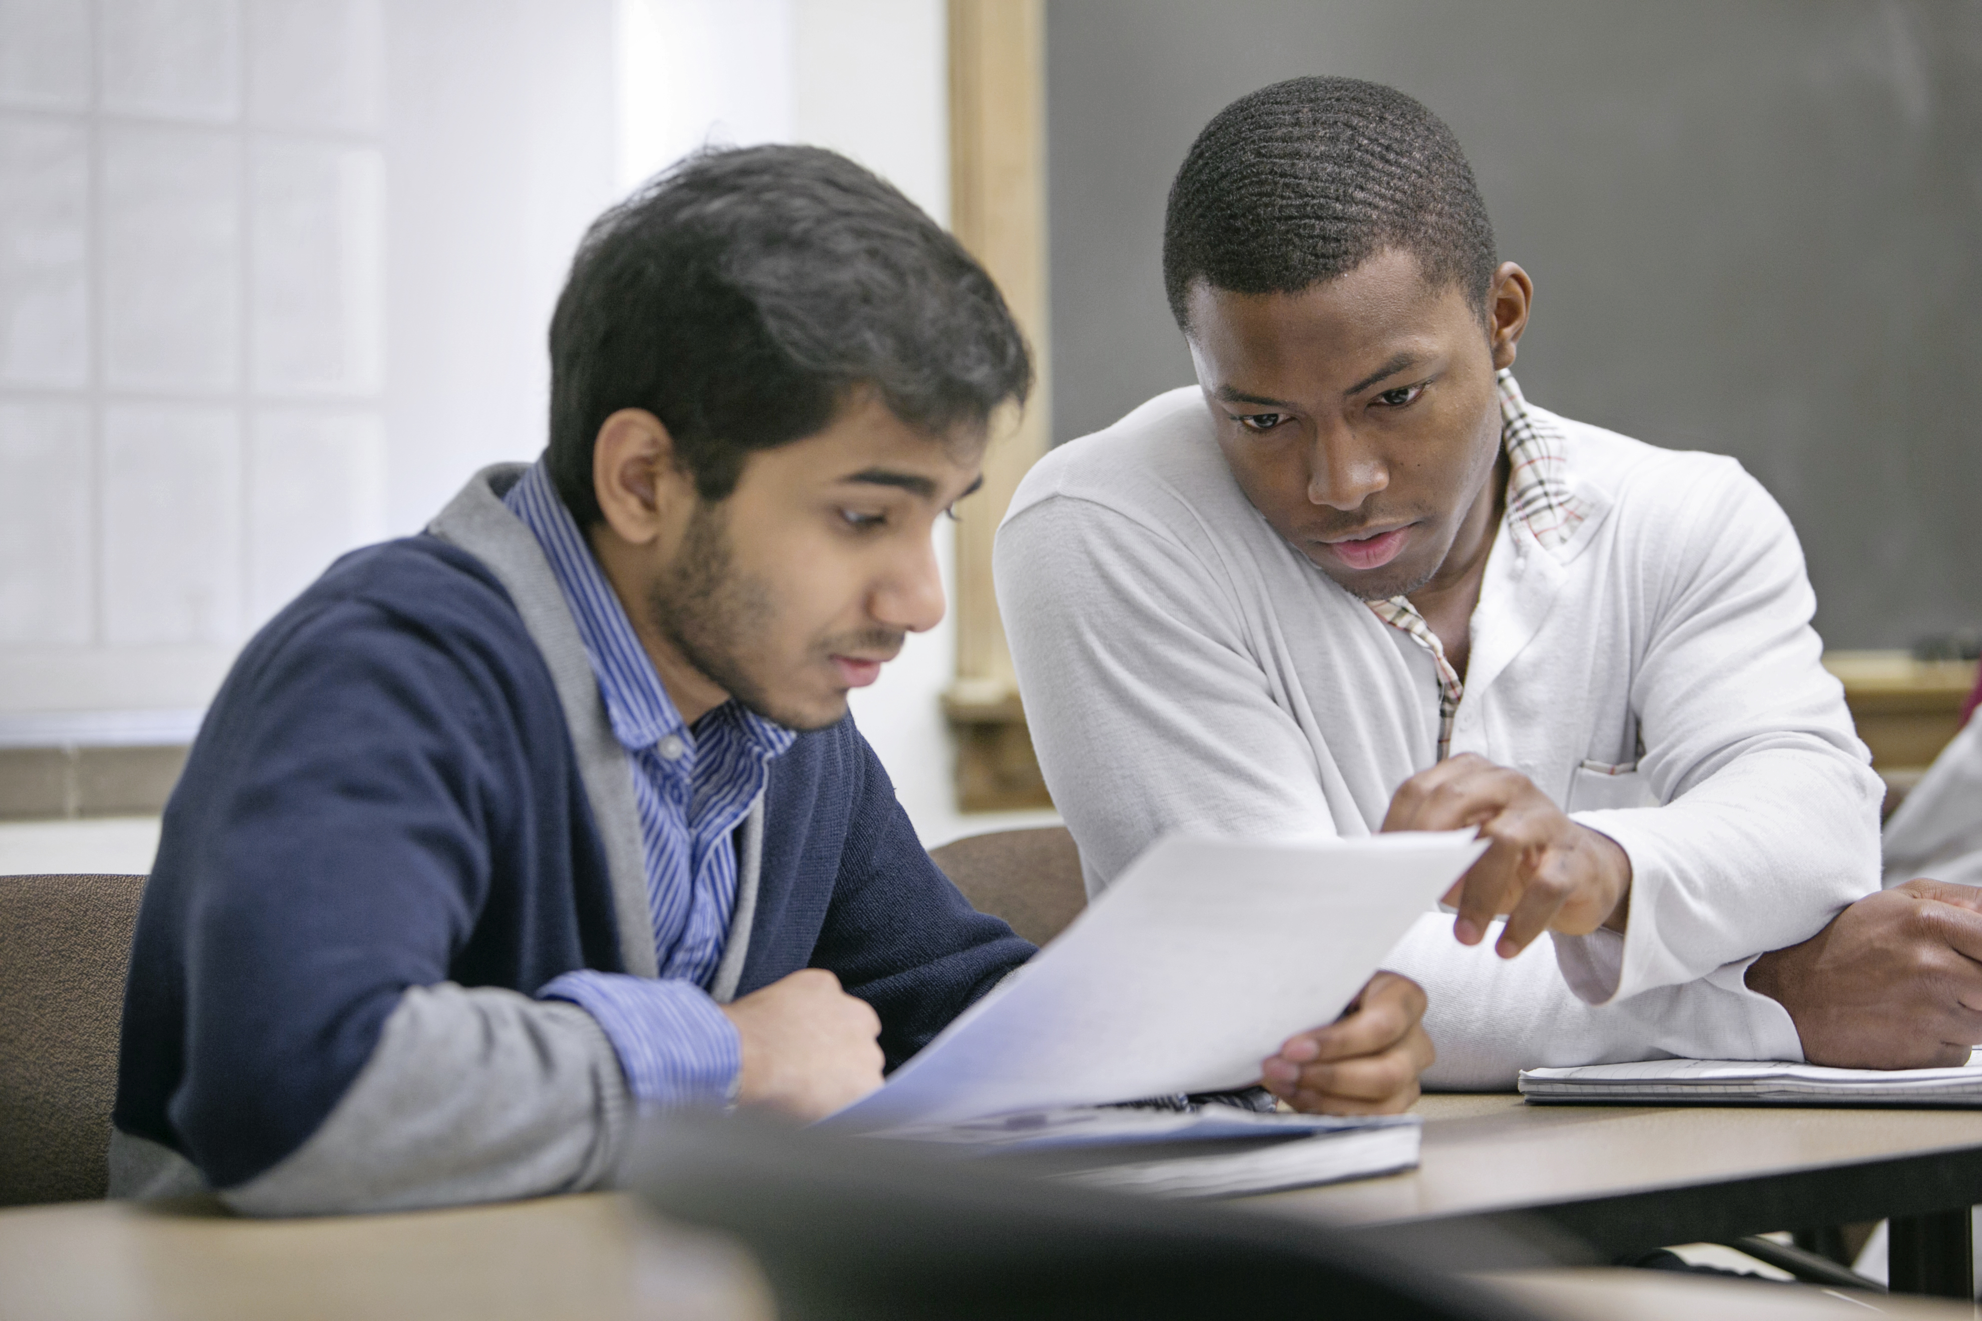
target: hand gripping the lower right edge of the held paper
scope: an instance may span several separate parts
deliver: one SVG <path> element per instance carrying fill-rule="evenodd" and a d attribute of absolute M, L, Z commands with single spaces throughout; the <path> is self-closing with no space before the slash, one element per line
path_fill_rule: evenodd
<path fill-rule="evenodd" d="M 1268 1056 L 1261 1081 L 1310 1115 L 1395 1115 L 1417 1101 L 1417 1075 L 1431 1060 L 1423 986 L 1377 972 L 1340 1018 Z"/>

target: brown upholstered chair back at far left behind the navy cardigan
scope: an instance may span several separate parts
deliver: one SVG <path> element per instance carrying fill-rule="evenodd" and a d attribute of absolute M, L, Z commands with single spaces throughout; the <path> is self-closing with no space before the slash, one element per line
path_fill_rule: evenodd
<path fill-rule="evenodd" d="M 0 1206 L 99 1198 L 143 875 L 0 875 Z"/>

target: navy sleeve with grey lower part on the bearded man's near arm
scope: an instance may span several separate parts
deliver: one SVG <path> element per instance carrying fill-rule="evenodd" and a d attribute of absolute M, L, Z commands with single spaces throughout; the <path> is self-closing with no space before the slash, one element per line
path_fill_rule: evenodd
<path fill-rule="evenodd" d="M 291 606 L 166 808 L 117 1123 L 240 1210 L 575 1190 L 622 1139 L 626 1081 L 583 1010 L 454 982 L 492 858 L 533 846 L 531 731 L 492 733 L 513 673 L 444 632 L 349 596 Z"/>

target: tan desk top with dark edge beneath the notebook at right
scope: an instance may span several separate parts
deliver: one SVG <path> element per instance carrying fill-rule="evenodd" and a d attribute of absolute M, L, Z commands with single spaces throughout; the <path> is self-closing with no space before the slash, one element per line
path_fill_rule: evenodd
<path fill-rule="evenodd" d="M 1427 1095 L 1417 1113 L 1425 1117 L 1425 1147 L 1415 1170 L 1270 1192 L 1247 1198 L 1247 1206 L 1381 1226 L 1576 1204 L 1578 1220 L 1564 1228 L 1605 1248 L 1601 1204 L 1659 1192 L 1718 1190 L 1707 1196 L 1736 1214 L 1732 1192 L 1744 1186 L 1788 1190 L 1740 1212 L 1782 1216 L 1776 1224 L 1716 1226 L 1716 1234 L 1653 1244 L 1808 1228 L 1798 1216 L 1812 1210 L 1829 1224 L 1944 1210 L 1982 1196 L 1982 1111 L 1526 1105 L 1502 1093 Z M 1879 1174 L 1865 1172 L 1869 1167 Z M 1925 1184 L 1923 1169 L 1932 1174 Z M 1823 1184 L 1821 1200 L 1810 1206 L 1817 1184 L 1798 1176 L 1829 1178 L 1835 1188 Z M 1885 1210 L 1867 1204 L 1861 1212 L 1853 1202 L 1881 1196 L 1891 1202 Z"/>

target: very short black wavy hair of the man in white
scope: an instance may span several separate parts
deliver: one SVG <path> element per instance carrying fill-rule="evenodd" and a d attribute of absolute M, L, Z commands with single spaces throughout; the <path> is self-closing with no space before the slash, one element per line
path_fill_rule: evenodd
<path fill-rule="evenodd" d="M 1387 248 L 1486 315 L 1492 222 L 1453 131 L 1393 87 L 1296 77 L 1239 97 L 1191 143 L 1163 216 L 1163 291 L 1189 333 L 1199 279 L 1300 293 Z"/>

